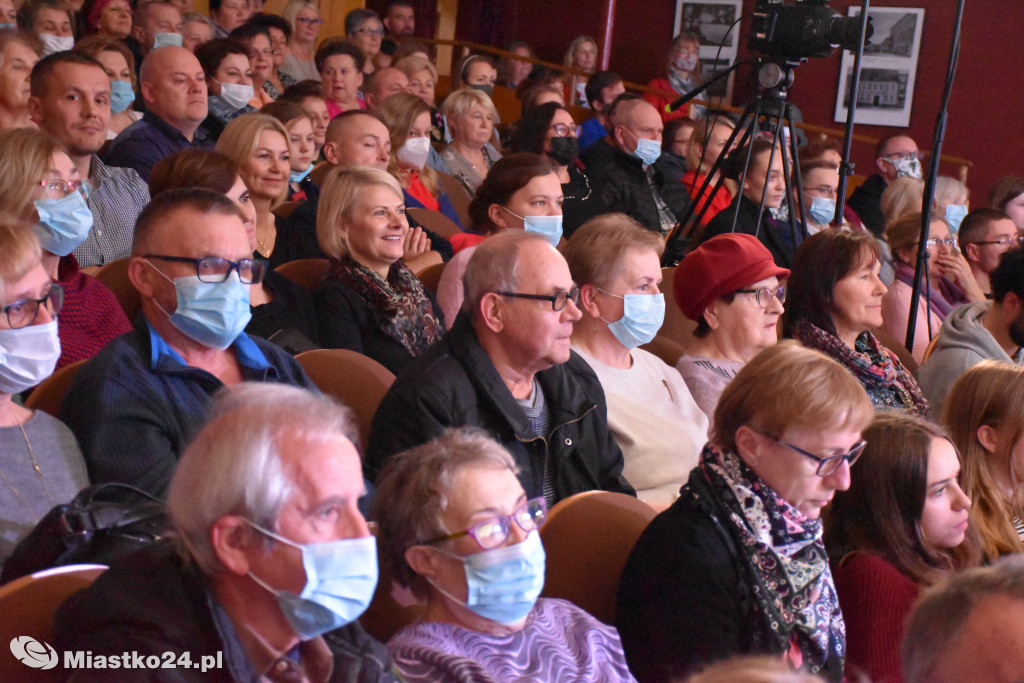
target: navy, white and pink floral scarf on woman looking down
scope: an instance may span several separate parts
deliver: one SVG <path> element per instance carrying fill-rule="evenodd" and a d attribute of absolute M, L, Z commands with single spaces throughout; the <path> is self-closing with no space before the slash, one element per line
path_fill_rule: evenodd
<path fill-rule="evenodd" d="M 775 645 L 790 653 L 795 666 L 824 675 L 829 659 L 842 661 L 846 655 L 846 627 L 821 542 L 821 521 L 782 500 L 735 454 L 709 443 L 698 469 L 716 504 L 728 514 L 722 521 L 736 541 L 757 609 L 776 637 Z"/>

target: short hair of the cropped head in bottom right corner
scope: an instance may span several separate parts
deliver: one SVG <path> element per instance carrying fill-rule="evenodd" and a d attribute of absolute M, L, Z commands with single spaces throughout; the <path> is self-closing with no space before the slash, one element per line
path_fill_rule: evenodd
<path fill-rule="evenodd" d="M 900 648 L 904 680 L 930 680 L 940 655 L 949 651 L 971 612 L 992 597 L 1024 601 L 1024 556 L 1007 555 L 991 566 L 968 569 L 922 595 Z"/>

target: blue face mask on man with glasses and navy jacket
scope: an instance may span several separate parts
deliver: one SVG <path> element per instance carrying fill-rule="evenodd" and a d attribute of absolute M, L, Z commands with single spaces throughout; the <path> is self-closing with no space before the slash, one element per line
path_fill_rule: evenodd
<path fill-rule="evenodd" d="M 150 263 L 146 261 L 146 263 Z M 222 283 L 200 282 L 198 275 L 171 280 L 153 263 L 154 270 L 168 282 L 174 283 L 177 307 L 168 313 L 154 299 L 154 303 L 167 315 L 174 329 L 204 346 L 224 350 L 239 338 L 249 325 L 249 286 L 232 271 Z"/>

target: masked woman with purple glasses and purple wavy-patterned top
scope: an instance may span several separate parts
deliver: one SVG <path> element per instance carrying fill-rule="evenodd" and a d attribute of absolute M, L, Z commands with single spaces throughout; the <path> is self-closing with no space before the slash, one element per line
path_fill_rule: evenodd
<path fill-rule="evenodd" d="M 426 603 L 387 643 L 406 680 L 634 680 L 613 628 L 539 599 L 547 507 L 500 444 L 449 430 L 391 458 L 376 501 L 383 571 Z"/>

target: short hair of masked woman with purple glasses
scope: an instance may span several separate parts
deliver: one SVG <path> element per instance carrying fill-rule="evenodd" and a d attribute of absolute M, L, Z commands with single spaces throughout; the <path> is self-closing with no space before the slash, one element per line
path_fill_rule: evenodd
<path fill-rule="evenodd" d="M 373 517 L 381 562 L 392 579 L 420 598 L 429 597 L 429 584 L 406 561 L 406 551 L 452 532 L 441 516 L 458 495 L 456 477 L 467 467 L 518 474 L 501 443 L 469 428 L 447 429 L 434 440 L 390 458 L 377 480 Z"/>

